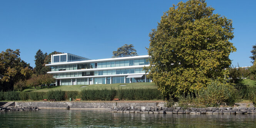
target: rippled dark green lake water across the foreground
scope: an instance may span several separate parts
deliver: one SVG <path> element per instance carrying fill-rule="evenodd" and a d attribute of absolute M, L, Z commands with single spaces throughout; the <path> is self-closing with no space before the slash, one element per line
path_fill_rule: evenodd
<path fill-rule="evenodd" d="M 0 127 L 22 128 L 241 128 L 256 127 L 256 114 L 189 115 L 110 113 L 107 110 L 40 110 L 0 112 Z"/>

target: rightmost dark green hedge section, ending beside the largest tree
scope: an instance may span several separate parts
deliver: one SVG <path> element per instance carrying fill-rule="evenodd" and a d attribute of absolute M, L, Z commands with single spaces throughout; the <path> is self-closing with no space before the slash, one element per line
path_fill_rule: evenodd
<path fill-rule="evenodd" d="M 163 100 L 157 89 L 124 89 L 117 90 L 117 98 L 122 100 Z"/>

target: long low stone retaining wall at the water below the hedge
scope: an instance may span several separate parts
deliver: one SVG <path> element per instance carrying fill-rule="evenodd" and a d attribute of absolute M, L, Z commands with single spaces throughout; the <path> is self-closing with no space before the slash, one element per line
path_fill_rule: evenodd
<path fill-rule="evenodd" d="M 38 101 L 38 102 L 15 102 L 17 107 L 37 106 L 39 108 L 55 108 L 55 109 L 66 109 L 67 106 L 70 108 L 94 108 L 94 109 L 110 109 L 114 106 L 164 106 L 164 102 L 148 102 L 148 103 L 136 103 L 136 102 L 67 102 L 67 101 Z"/>

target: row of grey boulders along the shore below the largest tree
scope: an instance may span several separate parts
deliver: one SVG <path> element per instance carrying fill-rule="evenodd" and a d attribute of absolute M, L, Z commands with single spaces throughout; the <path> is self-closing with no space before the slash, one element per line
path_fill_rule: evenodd
<path fill-rule="evenodd" d="M 208 107 L 187 108 L 159 106 L 114 106 L 110 112 L 117 113 L 160 113 L 160 114 L 256 114 L 255 107 Z"/>

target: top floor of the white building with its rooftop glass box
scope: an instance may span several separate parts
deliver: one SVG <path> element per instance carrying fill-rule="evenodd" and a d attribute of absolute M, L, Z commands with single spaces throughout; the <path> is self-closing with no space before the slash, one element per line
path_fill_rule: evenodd
<path fill-rule="evenodd" d="M 70 56 L 71 55 L 71 56 Z M 46 66 L 50 66 L 52 72 L 62 72 L 67 70 L 86 70 L 86 69 L 94 69 L 95 70 L 104 70 L 104 69 L 114 69 L 120 67 L 142 67 L 143 65 L 149 65 L 147 59 L 149 55 L 142 56 L 134 56 L 134 57 L 119 57 L 119 58 L 107 58 L 107 59 L 97 59 L 90 60 L 88 58 L 80 57 L 80 60 L 77 58 L 72 59 L 72 57 L 76 57 L 76 55 L 72 55 L 70 53 L 64 54 L 56 54 L 51 56 L 51 64 L 47 64 Z M 77 56 L 79 57 L 79 56 Z M 71 59 L 70 59 L 71 58 Z M 84 60 L 87 59 L 87 60 Z M 59 61 L 57 61 L 59 60 Z M 74 60 L 74 61 L 73 61 Z"/>

